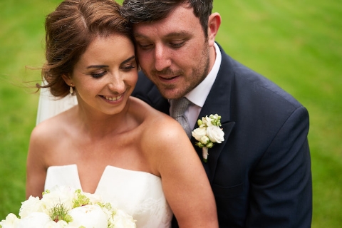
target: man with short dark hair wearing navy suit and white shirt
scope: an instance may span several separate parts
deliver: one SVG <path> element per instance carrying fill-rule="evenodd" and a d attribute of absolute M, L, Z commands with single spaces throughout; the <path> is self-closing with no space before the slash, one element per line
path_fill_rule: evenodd
<path fill-rule="evenodd" d="M 142 68 L 133 95 L 167 114 L 187 98 L 191 130 L 222 116 L 224 141 L 203 162 L 219 227 L 311 227 L 309 114 L 215 43 L 221 17 L 212 0 L 125 0 L 122 10 Z"/>

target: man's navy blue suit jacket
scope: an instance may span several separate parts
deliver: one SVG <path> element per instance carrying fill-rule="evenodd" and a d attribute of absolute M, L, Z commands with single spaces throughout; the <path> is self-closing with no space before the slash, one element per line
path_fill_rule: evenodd
<path fill-rule="evenodd" d="M 221 67 L 199 114 L 199 118 L 222 116 L 224 142 L 209 149 L 203 163 L 216 199 L 219 227 L 311 227 L 306 108 L 220 50 Z M 141 72 L 133 95 L 169 113 L 167 100 Z M 192 138 L 202 159 L 195 141 Z M 172 227 L 177 227 L 176 222 Z"/>

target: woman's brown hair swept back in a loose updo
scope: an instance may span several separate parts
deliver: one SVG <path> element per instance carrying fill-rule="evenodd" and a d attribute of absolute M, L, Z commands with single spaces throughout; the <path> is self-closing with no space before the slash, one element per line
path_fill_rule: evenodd
<path fill-rule="evenodd" d="M 41 74 L 51 94 L 63 98 L 69 86 L 62 75 L 69 75 L 91 41 L 97 36 L 120 33 L 133 40 L 130 24 L 120 15 L 113 0 L 65 0 L 46 16 L 46 63 Z M 115 53 L 113 53 L 115 55 Z"/>

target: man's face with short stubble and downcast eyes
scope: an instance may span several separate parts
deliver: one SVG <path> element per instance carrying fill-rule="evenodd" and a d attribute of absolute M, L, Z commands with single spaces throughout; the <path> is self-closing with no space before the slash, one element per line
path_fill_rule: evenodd
<path fill-rule="evenodd" d="M 165 98 L 184 96 L 207 76 L 207 38 L 187 5 L 160 21 L 135 24 L 133 32 L 142 71 Z"/>

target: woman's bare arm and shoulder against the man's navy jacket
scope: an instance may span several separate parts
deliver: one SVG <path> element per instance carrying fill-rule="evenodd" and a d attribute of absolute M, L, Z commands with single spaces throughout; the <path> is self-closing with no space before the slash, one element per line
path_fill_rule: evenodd
<path fill-rule="evenodd" d="M 147 147 L 154 151 L 152 163 L 179 226 L 218 227 L 209 180 L 184 130 L 170 119 L 154 126 Z"/>

